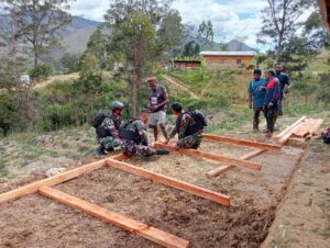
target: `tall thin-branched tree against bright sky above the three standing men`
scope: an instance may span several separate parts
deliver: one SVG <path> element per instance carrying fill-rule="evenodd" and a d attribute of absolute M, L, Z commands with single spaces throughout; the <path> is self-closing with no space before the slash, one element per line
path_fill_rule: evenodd
<path fill-rule="evenodd" d="M 263 26 L 257 35 L 257 42 L 275 44 L 276 60 L 280 61 L 283 44 L 297 31 L 299 16 L 308 9 L 310 0 L 267 0 L 263 10 Z"/>

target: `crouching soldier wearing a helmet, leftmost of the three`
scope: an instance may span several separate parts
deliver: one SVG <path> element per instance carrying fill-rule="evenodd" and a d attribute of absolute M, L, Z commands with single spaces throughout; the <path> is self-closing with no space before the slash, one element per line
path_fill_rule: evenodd
<path fill-rule="evenodd" d="M 106 151 L 113 151 L 114 147 L 121 145 L 119 138 L 119 127 L 121 124 L 120 116 L 124 109 L 124 104 L 114 101 L 110 104 L 110 115 L 108 115 L 97 129 L 97 139 L 100 146 L 97 148 L 98 155 L 106 155 Z"/>

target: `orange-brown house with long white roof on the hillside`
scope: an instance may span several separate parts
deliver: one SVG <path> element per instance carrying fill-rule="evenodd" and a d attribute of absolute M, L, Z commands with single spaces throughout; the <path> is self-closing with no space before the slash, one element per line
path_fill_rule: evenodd
<path fill-rule="evenodd" d="M 208 69 L 219 68 L 245 68 L 252 65 L 256 55 L 254 50 L 246 52 L 201 52 L 200 57 L 206 60 Z"/>

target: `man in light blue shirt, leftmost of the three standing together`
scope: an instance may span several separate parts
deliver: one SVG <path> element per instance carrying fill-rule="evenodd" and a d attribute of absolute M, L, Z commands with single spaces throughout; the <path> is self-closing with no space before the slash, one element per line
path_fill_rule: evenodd
<path fill-rule="evenodd" d="M 253 106 L 253 131 L 258 131 L 258 116 L 263 111 L 265 94 L 263 90 L 267 86 L 267 81 L 261 78 L 261 69 L 255 69 L 253 71 L 253 79 L 250 81 L 248 92 L 249 92 L 249 108 Z"/>

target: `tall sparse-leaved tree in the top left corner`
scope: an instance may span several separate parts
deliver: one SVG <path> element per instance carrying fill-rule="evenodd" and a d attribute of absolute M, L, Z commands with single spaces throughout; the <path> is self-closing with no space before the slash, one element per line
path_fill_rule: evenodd
<path fill-rule="evenodd" d="M 4 0 L 14 27 L 13 38 L 30 44 L 34 67 L 42 55 L 50 53 L 61 37 L 61 31 L 70 23 L 67 0 Z M 28 100 L 34 81 L 30 83 Z"/>

